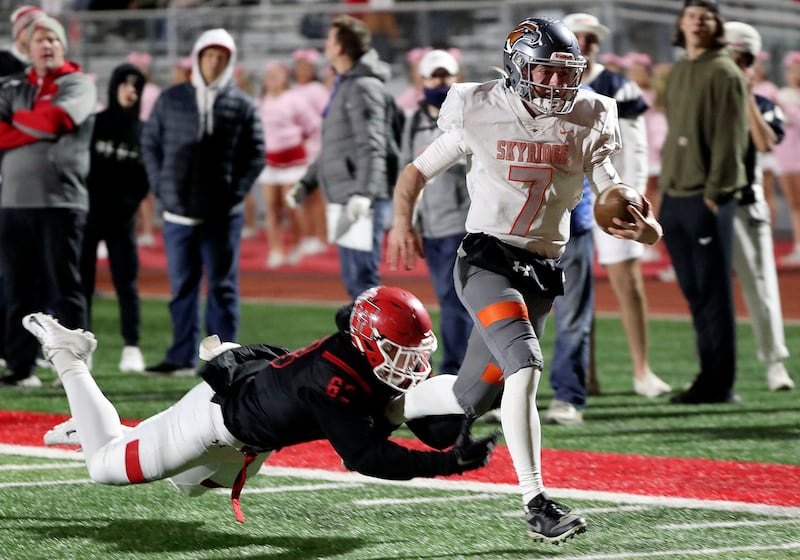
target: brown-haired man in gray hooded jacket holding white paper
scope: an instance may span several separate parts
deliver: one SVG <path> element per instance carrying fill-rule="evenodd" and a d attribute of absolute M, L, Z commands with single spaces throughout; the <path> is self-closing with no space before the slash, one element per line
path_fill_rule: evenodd
<path fill-rule="evenodd" d="M 323 112 L 321 149 L 305 176 L 290 191 L 290 205 L 322 187 L 325 200 L 342 208 L 349 222 L 372 217 L 372 248 L 364 250 L 337 242 L 342 283 L 355 299 L 380 285 L 383 235 L 391 219 L 391 189 L 387 175 L 387 144 L 391 138 L 390 96 L 384 82 L 389 67 L 371 49 L 370 31 L 350 16 L 333 20 L 325 57 L 336 81 Z M 328 223 L 328 228 L 335 224 Z"/>

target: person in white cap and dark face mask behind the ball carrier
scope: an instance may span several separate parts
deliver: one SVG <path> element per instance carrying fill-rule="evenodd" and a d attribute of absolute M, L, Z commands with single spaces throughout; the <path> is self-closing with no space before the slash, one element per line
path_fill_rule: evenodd
<path fill-rule="evenodd" d="M 413 161 L 442 134 L 436 120 L 450 86 L 458 80 L 459 65 L 449 52 L 433 50 L 422 57 L 418 71 L 424 97 L 406 120 L 404 163 Z M 422 236 L 428 273 L 441 308 L 443 359 L 438 373 L 458 372 L 472 330 L 472 319 L 453 284 L 453 265 L 458 245 L 466 234 L 464 223 L 469 209 L 465 164 L 464 160 L 459 161 L 431 180 L 437 183 L 437 188 L 425 189 L 414 220 L 414 227 Z"/>

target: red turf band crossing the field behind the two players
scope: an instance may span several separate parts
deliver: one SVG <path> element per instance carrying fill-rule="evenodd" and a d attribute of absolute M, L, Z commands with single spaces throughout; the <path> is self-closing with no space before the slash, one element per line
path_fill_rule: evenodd
<path fill-rule="evenodd" d="M 0 442 L 43 446 L 42 434 L 66 419 L 57 414 L 2 410 Z M 424 449 L 415 440 L 397 441 Z M 345 471 L 341 459 L 326 441 L 283 449 L 274 453 L 268 464 Z M 800 507 L 800 493 L 795 491 L 800 488 L 800 466 L 554 449 L 542 451 L 542 464 L 545 483 L 552 488 Z M 505 446 L 498 446 L 488 467 L 459 478 L 516 483 Z"/>

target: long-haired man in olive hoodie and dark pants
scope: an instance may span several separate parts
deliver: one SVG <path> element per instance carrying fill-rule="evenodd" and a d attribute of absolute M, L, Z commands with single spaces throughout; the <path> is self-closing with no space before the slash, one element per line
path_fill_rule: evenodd
<path fill-rule="evenodd" d="M 735 401 L 733 218 L 747 185 L 747 84 L 724 48 L 714 0 L 686 0 L 674 44 L 686 49 L 664 92 L 669 132 L 661 156 L 659 220 L 689 303 L 700 357 L 673 403 Z"/>

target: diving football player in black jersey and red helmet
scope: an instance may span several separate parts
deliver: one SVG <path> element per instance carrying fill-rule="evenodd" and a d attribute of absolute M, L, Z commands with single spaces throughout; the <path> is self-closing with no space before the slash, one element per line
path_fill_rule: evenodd
<path fill-rule="evenodd" d="M 474 440 L 469 421 L 447 451 L 417 451 L 389 441 L 387 414 L 405 391 L 428 377 L 436 337 L 428 312 L 411 293 L 371 288 L 337 332 L 305 348 L 239 346 L 209 337 L 200 347 L 204 382 L 134 428 L 92 377 L 94 335 L 34 313 L 23 324 L 42 345 L 67 393 L 72 418 L 54 428 L 79 436 L 95 482 L 140 484 L 169 479 L 188 496 L 231 488 L 239 493 L 274 451 L 327 439 L 350 470 L 387 479 L 459 474 L 485 466 L 498 434 Z M 402 407 L 400 407 L 402 408 Z M 453 441 L 455 440 L 455 441 Z"/>

